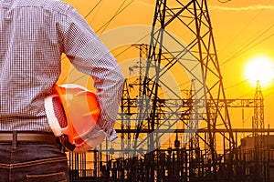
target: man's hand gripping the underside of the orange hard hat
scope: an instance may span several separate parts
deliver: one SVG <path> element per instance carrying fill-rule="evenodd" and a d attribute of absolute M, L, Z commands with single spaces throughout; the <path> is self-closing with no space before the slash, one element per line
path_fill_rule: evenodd
<path fill-rule="evenodd" d="M 73 153 L 85 153 L 88 150 L 97 147 L 105 138 L 105 134 L 101 132 L 100 136 L 95 136 L 92 138 L 88 138 L 84 140 L 81 144 L 76 145 L 75 149 L 72 151 Z"/>

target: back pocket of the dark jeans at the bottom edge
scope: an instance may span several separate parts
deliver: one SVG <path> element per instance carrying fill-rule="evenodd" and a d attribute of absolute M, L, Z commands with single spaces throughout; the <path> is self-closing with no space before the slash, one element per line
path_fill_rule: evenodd
<path fill-rule="evenodd" d="M 28 182 L 68 182 L 65 172 L 43 174 L 43 175 L 26 175 Z"/>

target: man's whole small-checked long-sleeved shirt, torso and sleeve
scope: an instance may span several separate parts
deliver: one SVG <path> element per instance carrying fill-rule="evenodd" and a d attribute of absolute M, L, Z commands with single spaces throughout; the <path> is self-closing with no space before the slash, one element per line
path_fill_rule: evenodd
<path fill-rule="evenodd" d="M 99 124 L 113 139 L 121 69 L 77 10 L 58 0 L 0 1 L 0 130 L 51 131 L 44 98 L 53 94 L 62 54 L 93 78 Z"/>

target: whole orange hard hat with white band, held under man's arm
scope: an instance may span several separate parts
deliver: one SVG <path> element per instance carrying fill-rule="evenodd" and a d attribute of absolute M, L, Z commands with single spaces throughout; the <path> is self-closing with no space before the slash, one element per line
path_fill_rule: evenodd
<path fill-rule="evenodd" d="M 67 135 L 70 144 L 80 144 L 100 116 L 97 97 L 75 84 L 56 85 L 55 90 L 55 95 L 45 99 L 48 124 L 55 136 Z"/>

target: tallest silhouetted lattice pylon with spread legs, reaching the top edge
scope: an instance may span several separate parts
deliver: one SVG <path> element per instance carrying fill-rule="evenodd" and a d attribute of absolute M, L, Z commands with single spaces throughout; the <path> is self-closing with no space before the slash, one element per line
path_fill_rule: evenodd
<path fill-rule="evenodd" d="M 178 36 L 175 37 L 169 33 L 171 29 L 175 30 Z M 184 40 L 184 43 L 180 40 Z M 189 65 L 190 62 L 196 65 Z M 205 85 L 205 87 L 195 87 L 197 89 L 196 94 L 206 92 L 207 102 L 205 113 L 202 116 L 203 122 L 208 129 L 205 146 L 208 147 L 211 153 L 213 177 L 216 178 L 217 128 L 226 128 L 229 133 L 229 136 L 218 133 L 227 139 L 227 146 L 229 146 L 227 153 L 231 153 L 235 147 L 235 142 L 232 132 L 229 132 L 231 125 L 225 90 L 205 0 L 156 1 L 146 75 L 142 90 L 143 95 L 149 96 L 153 103 L 151 116 L 148 118 L 149 132 L 153 132 L 156 123 L 159 123 L 157 109 L 161 99 L 158 96 L 160 90 L 158 83 L 160 83 L 167 70 L 172 69 L 174 66 L 183 66 L 191 79 L 195 79 L 198 84 Z M 194 71 L 196 67 L 201 70 L 201 75 Z M 153 86 L 150 85 L 152 84 L 152 78 Z M 205 101 L 202 97 L 197 97 L 200 99 L 198 102 Z M 223 106 L 219 105 L 219 100 L 223 101 Z M 142 125 L 139 127 L 141 129 Z M 155 139 L 157 138 L 152 138 L 151 145 L 153 145 Z"/>

